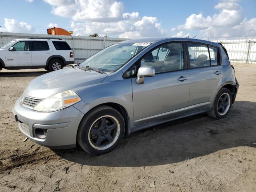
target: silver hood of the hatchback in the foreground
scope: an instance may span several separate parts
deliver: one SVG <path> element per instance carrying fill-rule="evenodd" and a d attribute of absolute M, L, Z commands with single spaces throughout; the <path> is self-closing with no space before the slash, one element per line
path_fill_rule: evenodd
<path fill-rule="evenodd" d="M 84 71 L 77 67 L 65 68 L 39 76 L 26 87 L 24 94 L 34 98 L 47 98 L 58 92 L 98 84 L 107 74 Z"/>

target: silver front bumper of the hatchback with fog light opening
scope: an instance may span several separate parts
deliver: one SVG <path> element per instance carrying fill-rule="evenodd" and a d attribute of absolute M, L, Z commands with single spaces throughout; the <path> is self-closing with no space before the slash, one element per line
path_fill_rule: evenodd
<path fill-rule="evenodd" d="M 70 106 L 55 112 L 37 112 L 20 106 L 12 110 L 20 131 L 30 140 L 49 148 L 74 148 L 76 133 L 84 114 Z"/>

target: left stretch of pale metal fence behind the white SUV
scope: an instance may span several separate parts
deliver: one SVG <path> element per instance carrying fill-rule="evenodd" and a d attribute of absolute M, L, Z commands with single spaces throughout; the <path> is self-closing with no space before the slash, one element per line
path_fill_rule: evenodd
<path fill-rule="evenodd" d="M 0 47 L 14 39 L 23 38 L 61 38 L 65 40 L 74 52 L 75 62 L 90 57 L 103 48 L 121 42 L 127 39 L 122 38 L 104 38 L 104 37 L 84 37 L 84 36 L 66 36 L 66 35 L 43 35 L 26 33 L 8 33 L 0 32 Z"/>

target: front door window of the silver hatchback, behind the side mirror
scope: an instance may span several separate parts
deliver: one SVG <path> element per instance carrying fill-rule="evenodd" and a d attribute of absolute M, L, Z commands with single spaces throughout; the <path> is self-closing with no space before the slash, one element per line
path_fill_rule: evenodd
<path fill-rule="evenodd" d="M 182 43 L 161 45 L 140 60 L 140 66 L 149 65 L 156 73 L 181 70 L 184 68 Z"/>

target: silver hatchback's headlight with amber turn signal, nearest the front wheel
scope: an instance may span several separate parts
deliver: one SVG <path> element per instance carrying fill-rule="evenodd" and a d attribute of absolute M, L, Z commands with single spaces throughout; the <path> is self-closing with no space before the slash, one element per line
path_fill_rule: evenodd
<path fill-rule="evenodd" d="M 80 100 L 81 98 L 74 91 L 63 91 L 41 101 L 35 106 L 34 110 L 40 112 L 53 112 L 69 107 Z"/>

